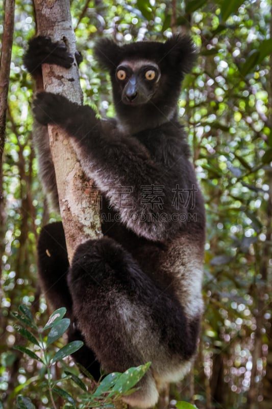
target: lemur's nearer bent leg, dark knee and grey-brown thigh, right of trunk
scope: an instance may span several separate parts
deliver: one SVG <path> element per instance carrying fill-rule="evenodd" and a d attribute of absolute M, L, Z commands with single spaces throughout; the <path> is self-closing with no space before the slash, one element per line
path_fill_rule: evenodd
<path fill-rule="evenodd" d="M 161 374 L 181 370 L 195 352 L 197 331 L 181 304 L 107 237 L 77 248 L 68 285 L 79 328 L 106 372 L 152 361 L 141 390 L 125 399 L 134 406 L 153 406 Z"/>

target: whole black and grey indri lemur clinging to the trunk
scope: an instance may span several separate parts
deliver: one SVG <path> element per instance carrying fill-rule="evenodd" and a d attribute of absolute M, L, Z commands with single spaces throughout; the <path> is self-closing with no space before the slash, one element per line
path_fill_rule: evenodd
<path fill-rule="evenodd" d="M 152 361 L 140 389 L 123 397 L 146 408 L 157 402 L 164 382 L 180 380 L 190 368 L 203 309 L 204 206 L 177 118 L 194 47 L 179 35 L 121 47 L 102 39 L 94 55 L 110 73 L 116 119 L 97 119 L 87 105 L 41 92 L 33 111 L 44 131 L 35 139 L 55 205 L 47 124 L 65 129 L 102 193 L 102 213 L 112 220 L 102 223 L 104 238 L 76 249 L 70 267 L 61 223 L 46 226 L 38 244 L 39 274 L 50 302 L 65 306 L 75 323 L 69 340 L 84 339 L 76 359 L 94 376 L 99 365 L 122 372 Z M 41 63 L 69 67 L 73 60 L 62 43 L 37 37 L 24 63 L 37 78 Z M 129 188 L 125 206 L 116 199 L 118 187 Z"/>

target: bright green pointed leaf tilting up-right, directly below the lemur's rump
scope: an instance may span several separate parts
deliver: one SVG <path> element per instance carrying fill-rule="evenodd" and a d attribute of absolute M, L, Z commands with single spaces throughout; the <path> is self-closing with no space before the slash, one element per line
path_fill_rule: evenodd
<path fill-rule="evenodd" d="M 131 388 L 139 382 L 139 380 L 143 377 L 146 371 L 151 366 L 151 362 L 145 363 L 145 365 L 140 365 L 139 367 L 130 368 L 126 372 L 124 372 L 116 381 L 114 387 L 112 388 L 112 393 L 109 397 L 113 394 L 113 392 L 118 392 L 120 394 L 124 394 L 128 392 Z"/>

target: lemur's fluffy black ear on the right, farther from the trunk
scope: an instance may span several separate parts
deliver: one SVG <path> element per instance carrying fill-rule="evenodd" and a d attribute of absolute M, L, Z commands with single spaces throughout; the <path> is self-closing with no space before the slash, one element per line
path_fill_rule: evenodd
<path fill-rule="evenodd" d="M 175 34 L 164 43 L 164 47 L 170 65 L 178 65 L 183 74 L 191 71 L 196 59 L 195 44 L 191 37 Z"/>

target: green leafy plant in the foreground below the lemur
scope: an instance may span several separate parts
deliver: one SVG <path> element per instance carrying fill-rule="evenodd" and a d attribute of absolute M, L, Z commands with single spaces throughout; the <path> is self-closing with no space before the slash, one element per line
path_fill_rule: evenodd
<path fill-rule="evenodd" d="M 66 403 L 65 408 L 114 407 L 114 401 L 118 400 L 122 395 L 133 393 L 137 389 L 135 388 L 136 383 L 149 369 L 151 362 L 147 362 L 139 367 L 130 368 L 124 373 L 115 372 L 107 375 L 100 383 L 95 385 L 95 389 L 91 393 L 87 391 L 87 387 L 80 377 L 70 371 L 64 371 L 66 376 L 61 379 L 53 379 L 52 367 L 56 362 L 62 361 L 63 358 L 76 352 L 83 345 L 82 341 L 72 341 L 55 352 L 53 343 L 64 334 L 70 325 L 70 320 L 63 318 L 65 313 L 66 308 L 57 309 L 50 316 L 45 326 L 40 328 L 35 323 L 29 308 L 25 305 L 20 305 L 19 312 L 13 312 L 13 316 L 20 322 L 20 325 L 15 324 L 14 328 L 22 337 L 28 339 L 33 344 L 35 352 L 22 346 L 15 346 L 14 348 L 40 362 L 45 369 L 41 373 L 47 374 L 46 385 L 54 409 L 57 409 L 55 403 L 56 395 L 62 397 Z M 84 368 L 82 370 L 87 377 L 92 379 L 87 370 Z M 63 389 L 62 383 L 66 380 L 72 380 L 81 390 L 78 398 L 79 402 L 76 402 L 71 394 Z M 61 387 L 59 386 L 60 384 Z M 16 403 L 18 409 L 35 409 L 31 399 L 22 395 L 17 396 Z"/>

